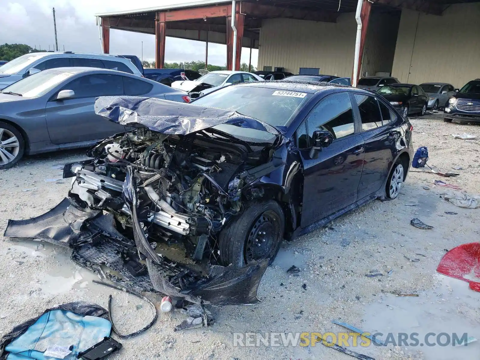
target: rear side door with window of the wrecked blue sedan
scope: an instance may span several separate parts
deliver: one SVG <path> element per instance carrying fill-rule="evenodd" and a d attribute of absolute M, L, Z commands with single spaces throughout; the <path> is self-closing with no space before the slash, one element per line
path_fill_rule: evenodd
<path fill-rule="evenodd" d="M 354 99 L 354 113 L 361 121 L 361 135 L 365 141 L 363 171 L 358 187 L 360 200 L 383 186 L 401 134 L 390 126 L 392 119 L 396 119 L 395 113 L 376 96 L 355 94 Z"/>

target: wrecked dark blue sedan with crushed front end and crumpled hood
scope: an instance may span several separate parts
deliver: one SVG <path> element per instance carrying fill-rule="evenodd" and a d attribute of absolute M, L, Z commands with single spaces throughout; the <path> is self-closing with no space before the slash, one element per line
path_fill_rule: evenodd
<path fill-rule="evenodd" d="M 283 239 L 395 199 L 412 159 L 408 120 L 349 86 L 244 83 L 190 104 L 108 96 L 96 114 L 135 129 L 65 165 L 68 198 L 5 236 L 68 245 L 79 264 L 192 302 L 257 302 Z"/>

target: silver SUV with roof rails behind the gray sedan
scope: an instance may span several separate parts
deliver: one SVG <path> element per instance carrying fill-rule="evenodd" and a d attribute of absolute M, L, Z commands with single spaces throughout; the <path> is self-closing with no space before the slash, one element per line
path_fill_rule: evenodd
<path fill-rule="evenodd" d="M 0 90 L 24 77 L 47 69 L 63 67 L 112 69 L 142 76 L 132 61 L 108 54 L 34 52 L 9 61 L 0 68 Z"/>

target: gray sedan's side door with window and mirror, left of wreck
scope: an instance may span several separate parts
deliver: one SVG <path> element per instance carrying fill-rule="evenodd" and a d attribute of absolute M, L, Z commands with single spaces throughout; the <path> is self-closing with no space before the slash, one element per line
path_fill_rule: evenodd
<path fill-rule="evenodd" d="M 83 75 L 60 90 L 73 90 L 75 95 L 58 101 L 55 100 L 57 91 L 47 102 L 45 115 L 53 144 L 103 139 L 123 131 L 123 126 L 96 115 L 94 111 L 96 97 L 124 94 L 122 76 Z"/>

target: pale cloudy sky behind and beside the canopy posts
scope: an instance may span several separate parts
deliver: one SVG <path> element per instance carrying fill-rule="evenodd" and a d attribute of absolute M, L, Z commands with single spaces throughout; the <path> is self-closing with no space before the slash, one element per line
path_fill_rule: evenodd
<path fill-rule="evenodd" d="M 55 34 L 52 8 L 55 7 L 59 50 L 100 53 L 95 14 L 148 8 L 177 3 L 175 0 L 1 0 L 0 44 L 27 44 L 32 48 L 54 49 Z M 186 2 L 182 0 L 181 2 Z M 135 7 L 135 4 L 138 4 Z M 137 55 L 155 60 L 155 36 L 130 31 L 110 30 L 110 53 Z M 248 63 L 249 49 L 243 48 L 241 62 Z M 258 50 L 252 51 L 252 65 L 257 65 Z M 167 37 L 166 62 L 205 60 L 205 43 Z M 208 63 L 227 63 L 227 47 L 209 44 Z"/>

